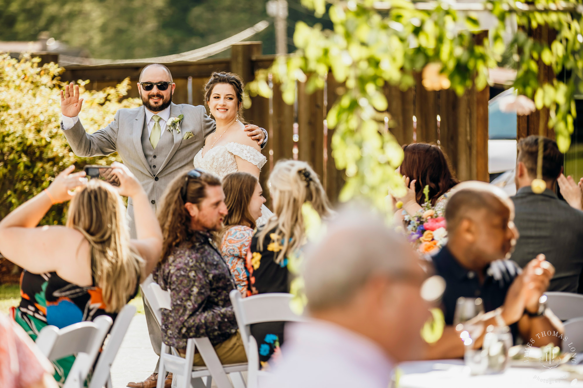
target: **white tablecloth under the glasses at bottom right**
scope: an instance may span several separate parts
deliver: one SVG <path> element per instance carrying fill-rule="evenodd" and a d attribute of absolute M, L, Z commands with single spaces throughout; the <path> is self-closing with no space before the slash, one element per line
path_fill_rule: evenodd
<path fill-rule="evenodd" d="M 403 362 L 399 368 L 399 388 L 583 387 L 583 379 L 559 368 L 509 367 L 498 375 L 470 376 L 461 359 Z"/>

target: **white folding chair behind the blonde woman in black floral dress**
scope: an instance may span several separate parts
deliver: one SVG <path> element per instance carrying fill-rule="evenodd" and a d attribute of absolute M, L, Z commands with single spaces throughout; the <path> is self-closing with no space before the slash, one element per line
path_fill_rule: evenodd
<path fill-rule="evenodd" d="M 269 376 L 269 373 L 259 371 L 259 352 L 257 341 L 251 335 L 251 324 L 279 321 L 305 322 L 307 319 L 291 311 L 290 302 L 293 298 L 291 294 L 270 292 L 243 298 L 241 292 L 233 290 L 229 297 L 247 354 L 247 387 L 257 388 L 258 380 Z"/>

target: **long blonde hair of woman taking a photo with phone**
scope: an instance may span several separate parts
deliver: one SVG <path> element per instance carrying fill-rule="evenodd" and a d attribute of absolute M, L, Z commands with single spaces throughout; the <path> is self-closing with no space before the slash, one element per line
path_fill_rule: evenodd
<path fill-rule="evenodd" d="M 106 312 L 119 312 L 136 290 L 143 260 L 129 241 L 125 206 L 113 186 L 91 179 L 71 200 L 66 226 L 90 245 L 91 270 Z"/>

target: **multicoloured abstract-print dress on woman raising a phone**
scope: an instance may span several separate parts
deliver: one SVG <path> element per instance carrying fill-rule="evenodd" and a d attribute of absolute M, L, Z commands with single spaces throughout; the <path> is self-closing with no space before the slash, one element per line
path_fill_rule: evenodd
<path fill-rule="evenodd" d="M 128 301 L 137 293 L 138 285 Z M 60 329 L 73 323 L 93 320 L 99 315 L 108 315 L 114 320 L 117 317 L 116 313 L 105 311 L 101 288 L 69 283 L 55 272 L 33 274 L 23 270 L 20 276 L 20 296 L 20 305 L 12 308 L 10 315 L 35 341 L 40 330 L 49 324 Z M 73 362 L 75 356 L 52 362 L 57 383 L 65 382 Z"/>

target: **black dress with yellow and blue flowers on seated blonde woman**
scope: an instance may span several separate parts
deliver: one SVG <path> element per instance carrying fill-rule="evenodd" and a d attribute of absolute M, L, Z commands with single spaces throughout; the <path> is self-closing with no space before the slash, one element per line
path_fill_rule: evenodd
<path fill-rule="evenodd" d="M 289 292 L 290 273 L 287 258 L 276 263 L 276 255 L 283 248 L 283 238 L 275 234 L 275 228 L 265 238 L 263 249 L 259 249 L 257 235 L 251 239 L 247 250 L 247 295 L 265 294 L 266 292 Z M 285 322 L 265 322 L 251 325 L 251 334 L 257 341 L 259 361 L 264 366 L 274 352 L 279 352 L 283 343 L 283 326 Z"/>

